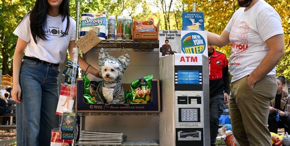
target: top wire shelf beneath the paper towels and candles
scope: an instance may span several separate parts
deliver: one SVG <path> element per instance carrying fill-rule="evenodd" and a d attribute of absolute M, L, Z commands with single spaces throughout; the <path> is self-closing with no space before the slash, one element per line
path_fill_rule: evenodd
<path fill-rule="evenodd" d="M 102 40 L 90 51 L 159 51 L 159 40 Z"/>

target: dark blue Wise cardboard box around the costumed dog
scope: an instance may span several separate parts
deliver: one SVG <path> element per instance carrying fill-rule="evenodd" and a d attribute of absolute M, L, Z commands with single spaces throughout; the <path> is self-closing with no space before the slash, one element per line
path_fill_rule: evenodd
<path fill-rule="evenodd" d="M 131 90 L 130 84 L 122 84 Z M 83 80 L 77 79 L 76 112 L 160 112 L 159 79 L 152 79 L 152 102 L 149 104 L 91 104 L 83 100 Z"/>

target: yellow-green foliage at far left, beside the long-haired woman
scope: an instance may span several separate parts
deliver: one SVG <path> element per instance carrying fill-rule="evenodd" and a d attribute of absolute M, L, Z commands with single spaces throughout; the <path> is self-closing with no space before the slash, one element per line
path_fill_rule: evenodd
<path fill-rule="evenodd" d="M 17 42 L 17 36 L 13 34 L 13 31 L 27 13 L 31 3 L 19 0 L 0 2 L 0 20 L 2 20 L 0 21 L 0 66 L 3 75 L 12 75 L 12 59 Z"/>

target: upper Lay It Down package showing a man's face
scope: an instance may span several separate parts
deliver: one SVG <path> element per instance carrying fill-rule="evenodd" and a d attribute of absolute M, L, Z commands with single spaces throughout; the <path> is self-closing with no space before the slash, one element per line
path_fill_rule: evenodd
<path fill-rule="evenodd" d="M 76 113 L 63 112 L 61 131 L 73 132 L 75 129 Z"/>

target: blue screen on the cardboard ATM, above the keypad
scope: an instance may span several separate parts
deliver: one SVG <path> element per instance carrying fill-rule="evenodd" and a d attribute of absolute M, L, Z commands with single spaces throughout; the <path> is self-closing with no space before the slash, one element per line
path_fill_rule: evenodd
<path fill-rule="evenodd" d="M 178 84 L 199 84 L 199 71 L 177 71 Z"/>

